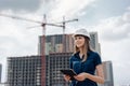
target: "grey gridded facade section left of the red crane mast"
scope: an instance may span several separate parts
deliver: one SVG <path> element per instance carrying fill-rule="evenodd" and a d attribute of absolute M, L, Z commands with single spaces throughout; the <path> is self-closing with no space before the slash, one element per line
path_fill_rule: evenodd
<path fill-rule="evenodd" d="M 9 57 L 8 86 L 41 86 L 41 57 Z"/>

